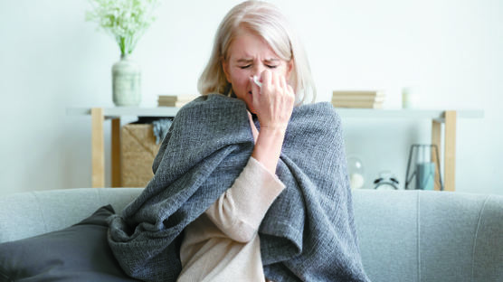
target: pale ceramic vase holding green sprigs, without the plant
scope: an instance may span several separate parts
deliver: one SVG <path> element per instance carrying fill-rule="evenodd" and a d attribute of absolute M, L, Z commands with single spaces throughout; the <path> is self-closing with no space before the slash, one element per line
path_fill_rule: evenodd
<path fill-rule="evenodd" d="M 141 102 L 139 64 L 122 55 L 112 66 L 112 91 L 115 106 L 138 106 Z"/>

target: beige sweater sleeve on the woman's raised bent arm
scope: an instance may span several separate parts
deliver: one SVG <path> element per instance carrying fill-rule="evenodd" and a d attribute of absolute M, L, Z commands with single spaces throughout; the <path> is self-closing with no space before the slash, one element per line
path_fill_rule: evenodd
<path fill-rule="evenodd" d="M 209 208 L 206 215 L 232 240 L 248 242 L 285 185 L 250 157 L 242 173 Z"/>

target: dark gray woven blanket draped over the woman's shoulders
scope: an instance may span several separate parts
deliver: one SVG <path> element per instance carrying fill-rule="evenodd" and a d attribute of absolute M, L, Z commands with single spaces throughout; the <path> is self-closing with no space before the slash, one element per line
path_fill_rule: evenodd
<path fill-rule="evenodd" d="M 154 160 L 154 177 L 121 215 L 109 219 L 110 248 L 129 276 L 176 281 L 185 226 L 233 185 L 253 146 L 240 99 L 212 94 L 178 111 Z M 368 281 L 340 118 L 329 103 L 294 108 L 276 174 L 286 188 L 259 229 L 265 277 Z"/>

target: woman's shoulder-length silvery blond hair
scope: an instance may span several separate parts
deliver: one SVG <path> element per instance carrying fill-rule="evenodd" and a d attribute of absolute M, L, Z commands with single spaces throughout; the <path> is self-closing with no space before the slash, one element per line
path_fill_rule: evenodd
<path fill-rule="evenodd" d="M 197 83 L 202 95 L 227 95 L 232 87 L 223 72 L 222 61 L 227 59 L 229 47 L 242 29 L 261 36 L 281 60 L 293 60 L 289 84 L 295 90 L 296 105 L 310 96 L 316 99 L 316 88 L 311 76 L 308 57 L 296 33 L 280 10 L 262 1 L 245 1 L 229 11 L 220 23 L 214 38 L 214 47 L 206 67 Z"/>

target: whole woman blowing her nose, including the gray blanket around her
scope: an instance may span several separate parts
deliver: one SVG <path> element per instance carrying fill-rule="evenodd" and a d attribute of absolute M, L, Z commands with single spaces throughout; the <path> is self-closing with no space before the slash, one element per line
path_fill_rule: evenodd
<path fill-rule="evenodd" d="M 122 268 L 147 281 L 366 281 L 340 120 L 328 103 L 301 106 L 316 90 L 275 6 L 224 17 L 199 90 L 145 192 L 110 221 Z"/>

